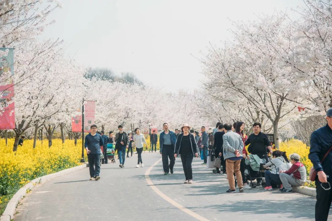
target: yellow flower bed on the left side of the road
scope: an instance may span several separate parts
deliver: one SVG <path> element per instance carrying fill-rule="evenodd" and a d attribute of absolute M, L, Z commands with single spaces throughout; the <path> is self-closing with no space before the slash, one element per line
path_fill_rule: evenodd
<path fill-rule="evenodd" d="M 13 143 L 14 139 L 8 139 L 6 146 L 0 139 L 0 214 L 13 194 L 30 180 L 81 164 L 81 140 L 75 146 L 74 140 L 62 144 L 61 139 L 53 139 L 50 148 L 47 140 L 37 140 L 35 149 L 33 140 L 24 140 L 16 152 L 12 151 Z"/>

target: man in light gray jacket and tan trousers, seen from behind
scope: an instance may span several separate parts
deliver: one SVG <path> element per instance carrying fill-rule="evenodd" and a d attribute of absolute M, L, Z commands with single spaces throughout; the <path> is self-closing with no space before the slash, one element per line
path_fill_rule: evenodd
<path fill-rule="evenodd" d="M 235 193 L 235 180 L 238 180 L 237 185 L 239 191 L 243 192 L 242 176 L 240 172 L 240 163 L 242 159 L 243 141 L 240 135 L 232 131 L 232 125 L 224 124 L 225 134 L 223 135 L 223 155 L 226 160 L 226 172 L 229 184 L 229 190 L 226 193 Z"/>

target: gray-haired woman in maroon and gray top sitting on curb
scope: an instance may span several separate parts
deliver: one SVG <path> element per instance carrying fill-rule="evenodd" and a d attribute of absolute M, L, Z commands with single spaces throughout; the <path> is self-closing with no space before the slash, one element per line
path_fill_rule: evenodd
<path fill-rule="evenodd" d="M 289 170 L 280 171 L 280 180 L 283 183 L 281 189 L 283 193 L 291 193 L 291 187 L 303 186 L 307 180 L 307 171 L 304 165 L 300 162 L 300 155 L 297 153 L 290 154 L 290 162 L 292 166 Z"/>

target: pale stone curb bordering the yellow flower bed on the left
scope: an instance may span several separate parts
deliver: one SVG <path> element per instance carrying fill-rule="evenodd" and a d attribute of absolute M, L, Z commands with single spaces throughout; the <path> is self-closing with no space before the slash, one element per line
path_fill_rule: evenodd
<path fill-rule="evenodd" d="M 51 173 L 51 174 L 48 174 L 48 175 L 45 175 L 42 177 L 38 177 L 38 178 L 32 180 L 30 183 L 26 184 L 24 187 L 22 187 L 20 190 L 18 190 L 13 195 L 13 197 L 9 200 L 5 211 L 3 212 L 3 214 L 0 217 L 0 221 L 11 221 L 13 219 L 17 204 L 23 198 L 23 196 L 25 196 L 25 194 L 27 194 L 27 191 L 31 190 L 36 184 L 45 183 L 46 181 L 49 181 L 55 177 L 63 176 L 65 174 L 83 169 L 87 166 L 88 166 L 88 164 L 82 164 L 80 166 L 61 170 L 59 172 Z"/>

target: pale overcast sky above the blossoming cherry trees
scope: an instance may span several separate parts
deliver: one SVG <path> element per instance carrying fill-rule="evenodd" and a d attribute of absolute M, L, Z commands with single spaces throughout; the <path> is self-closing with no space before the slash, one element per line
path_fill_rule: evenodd
<path fill-rule="evenodd" d="M 230 38 L 233 21 L 255 20 L 303 5 L 302 0 L 62 0 L 42 38 L 63 39 L 68 55 L 87 67 L 132 72 L 146 84 L 176 91 L 198 88 L 200 51 Z M 192 55 L 191 55 L 192 54 Z M 194 55 L 194 56 L 193 56 Z"/>

